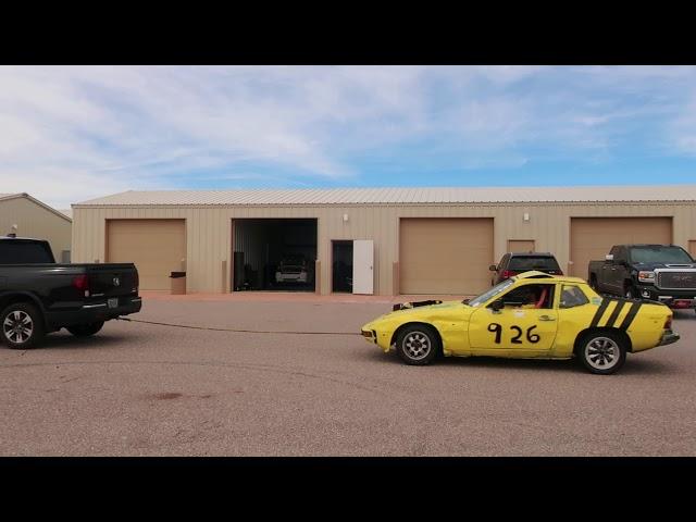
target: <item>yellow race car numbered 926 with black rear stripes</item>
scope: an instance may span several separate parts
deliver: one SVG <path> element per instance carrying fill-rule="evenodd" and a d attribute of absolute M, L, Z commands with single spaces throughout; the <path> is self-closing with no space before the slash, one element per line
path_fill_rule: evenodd
<path fill-rule="evenodd" d="M 530 271 L 460 301 L 395 304 L 362 326 L 385 352 L 407 364 L 446 357 L 576 357 L 592 373 L 619 370 L 626 352 L 679 340 L 664 304 L 601 297 L 579 277 Z"/>

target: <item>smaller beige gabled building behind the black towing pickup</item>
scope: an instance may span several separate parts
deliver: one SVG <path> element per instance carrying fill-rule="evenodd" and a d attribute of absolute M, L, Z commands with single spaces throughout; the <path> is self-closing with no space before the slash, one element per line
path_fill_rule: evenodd
<path fill-rule="evenodd" d="M 0 235 L 10 234 L 13 224 L 17 236 L 47 239 L 58 262 L 63 250 L 71 250 L 72 223 L 27 198 L 0 201 Z"/>

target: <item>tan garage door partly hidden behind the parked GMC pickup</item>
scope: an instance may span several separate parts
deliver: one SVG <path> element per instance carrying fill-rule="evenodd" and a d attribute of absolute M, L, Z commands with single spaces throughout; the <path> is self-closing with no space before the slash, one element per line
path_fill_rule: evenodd
<path fill-rule="evenodd" d="M 614 245 L 671 241 L 671 217 L 571 217 L 569 273 L 586 279 L 589 261 L 605 259 Z"/>

